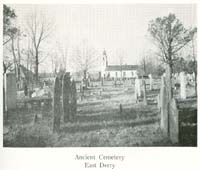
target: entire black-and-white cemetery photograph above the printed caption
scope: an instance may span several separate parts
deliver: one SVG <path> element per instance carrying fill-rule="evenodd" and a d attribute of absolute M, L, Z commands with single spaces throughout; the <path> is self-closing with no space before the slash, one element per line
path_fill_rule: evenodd
<path fill-rule="evenodd" d="M 3 4 L 3 147 L 196 147 L 196 10 Z"/>

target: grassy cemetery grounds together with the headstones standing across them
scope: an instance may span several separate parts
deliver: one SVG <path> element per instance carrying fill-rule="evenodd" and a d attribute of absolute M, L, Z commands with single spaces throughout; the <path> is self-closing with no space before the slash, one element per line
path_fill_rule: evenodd
<path fill-rule="evenodd" d="M 49 97 L 16 99 L 16 89 L 5 90 L 15 97 L 6 103 L 4 146 L 197 145 L 197 98 L 185 81 L 171 101 L 165 76 L 115 83 L 94 82 L 82 94 L 65 73 L 55 78 Z"/>

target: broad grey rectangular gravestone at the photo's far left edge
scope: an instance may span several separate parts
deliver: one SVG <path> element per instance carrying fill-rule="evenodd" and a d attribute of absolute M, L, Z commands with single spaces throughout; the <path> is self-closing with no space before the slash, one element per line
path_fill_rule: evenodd
<path fill-rule="evenodd" d="M 5 77 L 5 110 L 16 109 L 17 101 L 17 85 L 16 75 L 14 73 L 6 73 Z"/>

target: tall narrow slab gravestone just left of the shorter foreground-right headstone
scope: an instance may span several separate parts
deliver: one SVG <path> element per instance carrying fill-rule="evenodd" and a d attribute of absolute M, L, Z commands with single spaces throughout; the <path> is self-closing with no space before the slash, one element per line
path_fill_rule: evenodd
<path fill-rule="evenodd" d="M 168 136 L 168 95 L 167 87 L 165 82 L 165 76 L 161 77 L 161 88 L 160 88 L 160 127 L 165 136 Z"/>

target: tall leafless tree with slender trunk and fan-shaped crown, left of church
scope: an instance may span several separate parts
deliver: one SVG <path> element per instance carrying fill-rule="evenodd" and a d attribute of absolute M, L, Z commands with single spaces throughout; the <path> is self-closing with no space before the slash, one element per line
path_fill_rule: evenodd
<path fill-rule="evenodd" d="M 35 59 L 36 83 L 38 82 L 38 71 L 39 71 L 39 64 L 41 61 L 40 58 L 42 57 L 40 49 L 42 43 L 50 36 L 52 28 L 53 28 L 52 21 L 47 20 L 46 17 L 41 13 L 39 14 L 38 11 L 33 12 L 32 15 L 30 15 L 27 19 L 27 33 L 30 36 L 33 44 L 31 54 Z"/>

